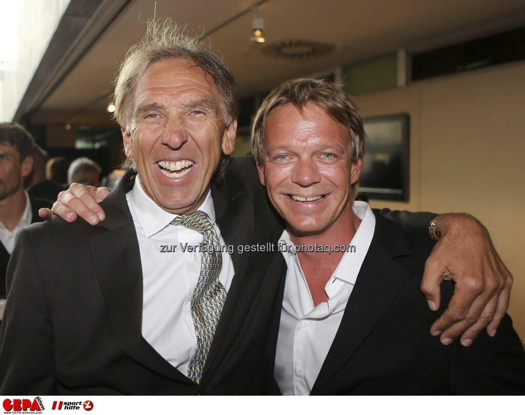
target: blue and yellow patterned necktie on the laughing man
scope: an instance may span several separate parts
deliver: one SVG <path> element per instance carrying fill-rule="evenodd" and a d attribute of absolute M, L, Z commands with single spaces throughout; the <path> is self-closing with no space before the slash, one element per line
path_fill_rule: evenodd
<path fill-rule="evenodd" d="M 170 225 L 182 225 L 203 234 L 201 274 L 191 301 L 197 347 L 188 365 L 188 378 L 198 384 L 226 299 L 226 290 L 219 281 L 223 258 L 217 234 L 206 213 L 198 210 L 189 215 L 178 215 Z"/>

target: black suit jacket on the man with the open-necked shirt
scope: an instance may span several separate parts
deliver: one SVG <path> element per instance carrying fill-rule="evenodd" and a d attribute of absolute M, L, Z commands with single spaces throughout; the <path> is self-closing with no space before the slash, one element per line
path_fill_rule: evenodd
<path fill-rule="evenodd" d="M 372 243 L 312 395 L 525 393 L 525 357 L 508 315 L 495 338 L 444 346 L 429 333 L 437 314 L 419 290 L 434 243 L 376 213 Z M 453 283 L 442 284 L 440 312 Z M 277 327 L 274 326 L 277 340 Z"/>

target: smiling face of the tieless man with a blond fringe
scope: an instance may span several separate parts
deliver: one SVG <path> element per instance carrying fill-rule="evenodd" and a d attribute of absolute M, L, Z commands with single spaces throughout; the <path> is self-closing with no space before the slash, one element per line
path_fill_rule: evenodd
<path fill-rule="evenodd" d="M 314 103 L 303 112 L 287 103 L 265 126 L 264 163 L 258 164 L 269 199 L 293 236 L 338 232 L 352 223 L 352 183 L 361 162 L 350 161 L 343 124 Z"/>

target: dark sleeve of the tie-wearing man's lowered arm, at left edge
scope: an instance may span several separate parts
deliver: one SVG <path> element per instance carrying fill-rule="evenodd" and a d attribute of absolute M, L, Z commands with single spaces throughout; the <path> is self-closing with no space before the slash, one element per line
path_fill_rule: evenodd
<path fill-rule="evenodd" d="M 56 395 L 53 326 L 35 248 L 20 230 L 7 267 L 0 395 Z"/>

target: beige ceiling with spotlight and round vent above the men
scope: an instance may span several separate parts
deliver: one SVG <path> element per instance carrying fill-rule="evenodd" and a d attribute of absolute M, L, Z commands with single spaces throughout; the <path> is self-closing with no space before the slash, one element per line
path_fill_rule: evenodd
<path fill-rule="evenodd" d="M 336 45 L 330 55 L 298 61 L 269 57 L 250 43 L 253 14 L 234 17 L 253 1 L 173 0 L 154 6 L 153 0 L 132 0 L 117 14 L 125 3 L 103 3 L 89 30 L 35 98 L 32 122 L 112 125 L 106 107 L 114 75 L 127 49 L 142 37 L 155 7 L 156 17 L 169 16 L 187 25 L 190 33 L 211 33 L 212 47 L 232 70 L 240 96 L 400 48 L 428 50 L 525 24 L 523 0 L 267 0 L 257 9 L 265 19 L 267 43 L 307 39 Z"/>

